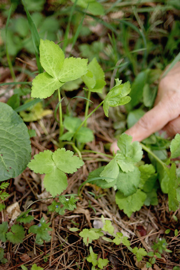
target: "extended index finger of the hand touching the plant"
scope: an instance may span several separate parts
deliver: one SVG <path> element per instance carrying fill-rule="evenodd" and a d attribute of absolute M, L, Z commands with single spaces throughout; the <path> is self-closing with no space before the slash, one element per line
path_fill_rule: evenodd
<path fill-rule="evenodd" d="M 138 122 L 125 131 L 133 141 L 142 141 L 152 133 L 162 129 L 169 121 L 180 113 L 180 93 L 167 92 L 150 111 L 146 112 Z"/>

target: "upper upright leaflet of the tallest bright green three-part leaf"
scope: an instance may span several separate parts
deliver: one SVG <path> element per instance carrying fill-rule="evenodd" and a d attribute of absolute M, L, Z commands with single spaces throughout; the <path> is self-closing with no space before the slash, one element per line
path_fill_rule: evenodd
<path fill-rule="evenodd" d="M 40 64 L 43 69 L 53 78 L 58 79 L 60 69 L 64 63 L 62 49 L 50 40 L 40 39 Z"/>

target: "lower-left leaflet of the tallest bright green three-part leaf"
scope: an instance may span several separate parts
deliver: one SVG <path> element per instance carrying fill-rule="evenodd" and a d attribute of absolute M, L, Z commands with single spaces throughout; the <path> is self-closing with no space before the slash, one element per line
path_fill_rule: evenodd
<path fill-rule="evenodd" d="M 40 73 L 32 80 L 31 97 L 46 98 L 51 96 L 63 84 L 64 82 L 59 82 L 47 72 Z"/>

